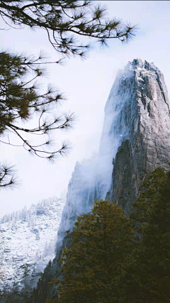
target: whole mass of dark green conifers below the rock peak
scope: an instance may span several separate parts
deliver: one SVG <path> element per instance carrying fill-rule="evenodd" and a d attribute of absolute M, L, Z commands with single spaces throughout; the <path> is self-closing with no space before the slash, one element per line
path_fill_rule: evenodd
<path fill-rule="evenodd" d="M 109 201 L 79 216 L 52 303 L 170 302 L 170 172 L 157 168 L 128 219 Z"/>

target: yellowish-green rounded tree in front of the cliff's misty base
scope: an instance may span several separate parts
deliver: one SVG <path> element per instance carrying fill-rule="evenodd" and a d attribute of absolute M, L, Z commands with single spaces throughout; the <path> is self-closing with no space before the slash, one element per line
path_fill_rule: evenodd
<path fill-rule="evenodd" d="M 119 281 L 123 263 L 135 241 L 128 219 L 109 201 L 94 202 L 91 214 L 77 218 L 71 248 L 64 248 L 62 279 L 57 280 L 54 302 L 118 302 L 123 298 Z"/>

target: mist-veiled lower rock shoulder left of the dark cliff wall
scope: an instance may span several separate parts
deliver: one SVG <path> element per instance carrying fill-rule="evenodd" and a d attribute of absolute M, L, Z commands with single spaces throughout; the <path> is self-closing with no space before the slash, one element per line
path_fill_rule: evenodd
<path fill-rule="evenodd" d="M 90 160 L 76 163 L 72 178 L 69 181 L 67 202 L 62 211 L 60 228 L 57 232 L 58 248 L 62 245 L 64 236 L 74 228 L 77 216 L 91 211 L 93 202 L 96 199 L 105 199 L 110 182 L 108 183 L 108 180 L 104 178 L 106 173 L 103 172 L 103 167 L 106 166 L 103 165 L 103 162 L 96 155 Z M 109 169 L 112 170 L 112 165 L 109 166 Z M 103 180 L 101 175 L 103 175 Z"/>

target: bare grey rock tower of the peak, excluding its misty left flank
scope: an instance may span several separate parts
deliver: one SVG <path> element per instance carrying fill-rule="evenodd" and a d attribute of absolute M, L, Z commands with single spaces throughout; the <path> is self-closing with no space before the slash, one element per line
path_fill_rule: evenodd
<path fill-rule="evenodd" d="M 110 197 L 130 214 L 146 174 L 169 167 L 170 106 L 164 76 L 153 63 L 133 60 L 118 83 L 117 96 L 122 100 L 125 94 L 126 100 L 117 117 L 120 125 L 113 128 L 126 132 L 115 157 Z"/>

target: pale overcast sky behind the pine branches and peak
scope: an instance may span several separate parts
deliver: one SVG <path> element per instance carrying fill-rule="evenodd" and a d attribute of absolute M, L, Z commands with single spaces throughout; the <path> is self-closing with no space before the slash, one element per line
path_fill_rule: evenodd
<path fill-rule="evenodd" d="M 96 48 L 87 60 L 67 60 L 64 66 L 48 67 L 47 83 L 55 84 L 67 96 L 63 109 L 76 113 L 77 122 L 68 133 L 55 133 L 55 139 L 69 138 L 73 148 L 67 158 L 55 164 L 30 156 L 23 148 L 0 144 L 0 158 L 15 164 L 21 185 L 1 190 L 0 216 L 30 206 L 52 196 L 60 197 L 67 189 L 77 160 L 89 158 L 98 151 L 103 128 L 104 106 L 119 69 L 136 57 L 154 62 L 169 84 L 170 2 L 169 1 L 100 1 L 108 6 L 108 16 L 138 24 L 140 29 L 128 45 L 111 41 L 109 48 Z M 0 23 L 0 28 L 3 23 Z M 51 58 L 57 54 L 45 32 L 23 30 L 0 31 L 1 50 L 37 54 L 44 50 Z"/>

